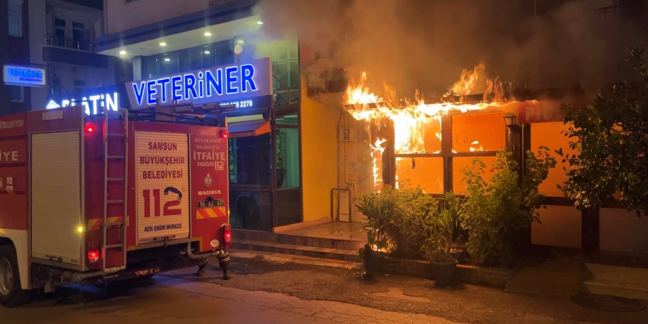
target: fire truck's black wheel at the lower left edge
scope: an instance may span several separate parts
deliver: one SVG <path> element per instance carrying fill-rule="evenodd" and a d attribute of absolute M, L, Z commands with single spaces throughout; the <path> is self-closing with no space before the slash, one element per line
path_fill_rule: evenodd
<path fill-rule="evenodd" d="M 0 304 L 14 307 L 28 302 L 29 292 L 20 288 L 16 249 L 12 245 L 0 246 Z"/>

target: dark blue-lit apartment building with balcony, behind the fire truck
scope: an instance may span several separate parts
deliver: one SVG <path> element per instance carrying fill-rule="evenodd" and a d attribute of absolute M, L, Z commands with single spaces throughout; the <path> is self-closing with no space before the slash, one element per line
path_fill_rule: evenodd
<path fill-rule="evenodd" d="M 0 8 L 8 18 L 0 29 L 0 62 L 26 80 L 7 82 L 5 74 L 1 113 L 45 109 L 52 100 L 87 102 L 91 89 L 130 80 L 129 62 L 95 52 L 102 1 L 4 0 Z M 30 69 L 41 73 L 40 83 L 24 78 Z"/>

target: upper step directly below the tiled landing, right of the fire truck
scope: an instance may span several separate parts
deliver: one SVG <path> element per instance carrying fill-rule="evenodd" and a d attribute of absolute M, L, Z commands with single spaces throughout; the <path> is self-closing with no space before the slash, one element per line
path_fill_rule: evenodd
<path fill-rule="evenodd" d="M 250 231 L 246 229 L 233 229 L 232 242 L 237 240 L 253 240 L 295 246 L 310 246 L 312 248 L 343 249 L 357 252 L 364 246 L 364 242 L 356 240 L 338 240 L 335 238 L 303 237 L 283 233 L 270 233 L 264 231 Z"/>

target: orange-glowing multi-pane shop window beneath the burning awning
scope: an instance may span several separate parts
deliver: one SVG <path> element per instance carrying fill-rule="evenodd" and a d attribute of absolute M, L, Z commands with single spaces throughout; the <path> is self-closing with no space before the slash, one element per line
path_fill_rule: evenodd
<path fill-rule="evenodd" d="M 407 180 L 411 186 L 421 186 L 430 194 L 442 194 L 450 189 L 465 194 L 462 170 L 476 158 L 485 163 L 482 176 L 490 181 L 496 154 L 506 146 L 503 115 L 502 112 L 469 112 L 428 119 L 397 119 L 393 123 L 397 185 Z M 442 137 L 442 124 L 450 127 L 446 133 L 450 135 L 448 138 Z M 452 167 L 446 169 L 448 165 Z"/>

